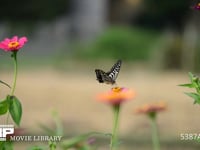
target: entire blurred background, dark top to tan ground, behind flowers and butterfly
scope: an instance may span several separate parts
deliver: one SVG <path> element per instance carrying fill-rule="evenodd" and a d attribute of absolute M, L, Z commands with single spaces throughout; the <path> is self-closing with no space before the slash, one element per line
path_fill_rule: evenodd
<path fill-rule="evenodd" d="M 122 59 L 117 82 L 138 93 L 137 100 L 125 104 L 122 112 L 123 149 L 150 149 L 148 121 L 134 116 L 132 110 L 158 100 L 169 104 L 169 110 L 158 121 L 162 149 L 199 149 L 194 141 L 180 141 L 180 133 L 200 131 L 200 110 L 183 94 L 186 89 L 177 86 L 189 82 L 188 71 L 198 74 L 200 69 L 200 11 L 192 9 L 197 3 L 197 0 L 2 1 L 0 39 L 13 35 L 28 38 L 18 53 L 20 73 L 16 92 L 23 101 L 22 127 L 32 134 L 41 132 L 38 122 L 51 126 L 50 112 L 56 109 L 66 127 L 66 136 L 91 130 L 110 131 L 109 107 L 100 107 L 93 100 L 96 93 L 110 87 L 95 81 L 94 69 L 107 71 L 117 59 Z M 12 83 L 12 67 L 10 54 L 0 51 L 1 80 Z M 3 98 L 8 89 L 1 90 Z M 99 141 L 107 149 L 107 141 Z M 18 149 L 29 145 L 18 143 Z"/>

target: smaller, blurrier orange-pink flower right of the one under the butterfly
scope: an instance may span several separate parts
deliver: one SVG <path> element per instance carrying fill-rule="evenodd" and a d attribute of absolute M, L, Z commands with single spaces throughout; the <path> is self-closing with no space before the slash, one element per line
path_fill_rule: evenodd
<path fill-rule="evenodd" d="M 166 110 L 167 105 L 164 102 L 154 103 L 154 104 L 145 104 L 136 109 L 136 113 L 152 113 Z"/>

